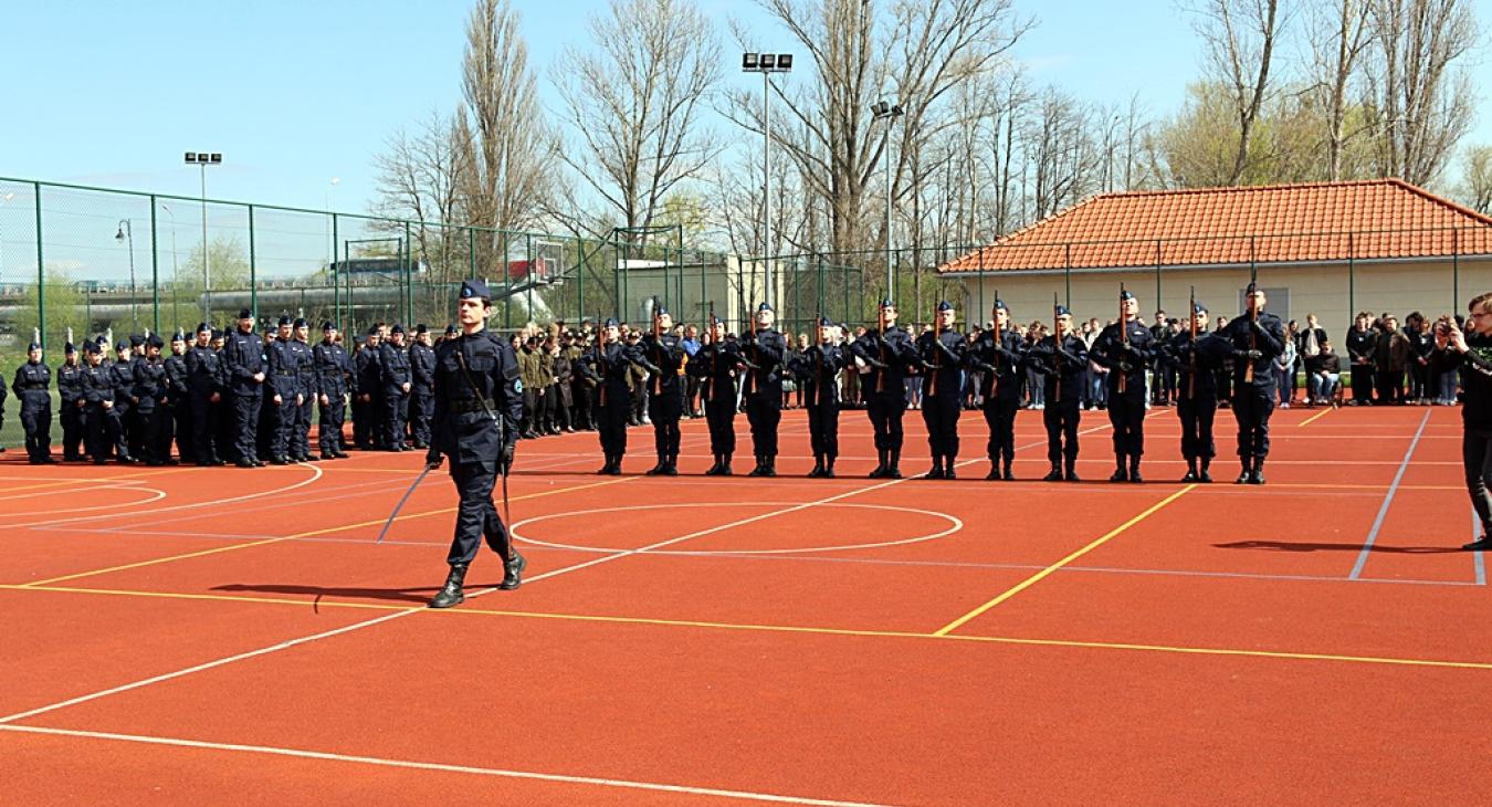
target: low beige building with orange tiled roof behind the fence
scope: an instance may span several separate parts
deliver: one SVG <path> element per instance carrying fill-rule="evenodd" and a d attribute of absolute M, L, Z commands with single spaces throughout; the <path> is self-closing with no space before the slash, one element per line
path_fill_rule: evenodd
<path fill-rule="evenodd" d="M 965 310 L 995 292 L 1018 321 L 1052 297 L 1113 319 L 1120 283 L 1182 316 L 1191 289 L 1213 313 L 1243 307 L 1250 276 L 1283 318 L 1316 313 L 1340 339 L 1358 310 L 1462 312 L 1492 291 L 1492 218 L 1398 179 L 1095 195 L 938 267 Z"/>

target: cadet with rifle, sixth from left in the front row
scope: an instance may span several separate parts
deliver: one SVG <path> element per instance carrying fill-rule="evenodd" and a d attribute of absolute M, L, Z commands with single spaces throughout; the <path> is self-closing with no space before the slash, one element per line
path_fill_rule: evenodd
<path fill-rule="evenodd" d="M 880 301 L 880 328 L 858 337 L 850 351 L 870 365 L 864 398 L 870 425 L 876 433 L 880 464 L 871 479 L 901 479 L 901 416 L 907 410 L 906 365 L 916 358 L 912 336 L 897 327 L 897 306 Z"/>

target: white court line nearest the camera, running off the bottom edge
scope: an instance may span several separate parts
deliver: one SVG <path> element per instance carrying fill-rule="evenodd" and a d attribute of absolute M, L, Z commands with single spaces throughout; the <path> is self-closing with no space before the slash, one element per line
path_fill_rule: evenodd
<path fill-rule="evenodd" d="M 186 749 L 233 750 L 245 753 L 264 753 L 273 756 L 292 756 L 300 759 L 322 759 L 328 762 L 351 762 L 358 765 L 382 765 L 388 768 L 413 768 L 421 771 L 461 773 L 473 776 L 498 776 L 503 779 L 531 779 L 539 782 L 558 782 L 564 785 L 595 785 L 600 788 L 625 788 L 631 791 L 653 791 L 665 794 L 704 795 L 718 798 L 734 798 L 742 801 L 768 801 L 774 804 L 809 804 L 818 807 L 883 807 L 864 801 L 833 801 L 824 798 L 806 798 L 776 794 L 756 794 L 749 791 L 725 791 L 719 788 L 695 788 L 689 785 L 662 785 L 656 782 L 636 782 L 630 779 L 601 779 L 594 776 L 567 776 L 557 773 L 516 771 L 507 768 L 477 768 L 471 765 L 448 765 L 443 762 L 416 762 L 410 759 L 388 759 L 382 756 L 357 756 L 346 753 L 328 753 L 321 750 L 286 749 L 276 746 L 245 746 L 239 743 L 207 743 L 203 740 L 181 740 L 175 737 L 148 737 L 142 734 L 113 734 L 106 731 L 76 731 L 66 728 L 45 726 L 0 726 L 3 731 L 18 731 L 27 734 L 49 734 L 58 737 L 84 737 L 90 740 L 113 740 L 122 743 L 143 743 L 152 746 L 176 746 Z"/>

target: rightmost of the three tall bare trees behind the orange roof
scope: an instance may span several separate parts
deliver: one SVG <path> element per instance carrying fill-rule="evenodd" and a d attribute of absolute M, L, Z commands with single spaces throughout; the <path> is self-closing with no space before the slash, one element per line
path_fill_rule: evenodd
<path fill-rule="evenodd" d="M 1456 63 L 1477 42 L 1476 19 L 1461 0 L 1371 0 L 1371 13 L 1379 170 L 1429 185 L 1471 128 L 1471 79 Z"/>

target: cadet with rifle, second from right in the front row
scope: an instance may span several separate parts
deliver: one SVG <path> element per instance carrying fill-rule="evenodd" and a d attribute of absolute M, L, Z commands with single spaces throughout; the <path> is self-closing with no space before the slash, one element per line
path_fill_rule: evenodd
<path fill-rule="evenodd" d="M 1217 455 L 1212 430 L 1217 415 L 1217 368 L 1229 352 L 1228 342 L 1207 333 L 1207 307 L 1194 303 L 1191 327 L 1173 336 L 1164 351 L 1180 373 L 1176 415 L 1182 419 L 1182 456 L 1186 458 L 1182 482 L 1212 482 L 1209 465 Z"/>

